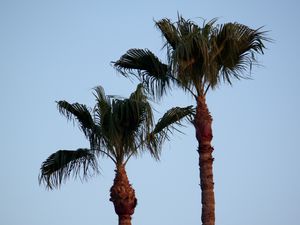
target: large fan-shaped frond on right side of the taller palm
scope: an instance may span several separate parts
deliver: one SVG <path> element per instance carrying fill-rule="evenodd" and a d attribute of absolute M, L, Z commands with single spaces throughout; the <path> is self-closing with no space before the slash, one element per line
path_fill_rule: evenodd
<path fill-rule="evenodd" d="M 219 65 L 219 80 L 232 84 L 231 79 L 249 78 L 244 72 L 257 63 L 257 54 L 264 54 L 265 31 L 251 29 L 239 23 L 221 25 L 212 34 L 213 43 L 217 46 L 213 60 Z"/>

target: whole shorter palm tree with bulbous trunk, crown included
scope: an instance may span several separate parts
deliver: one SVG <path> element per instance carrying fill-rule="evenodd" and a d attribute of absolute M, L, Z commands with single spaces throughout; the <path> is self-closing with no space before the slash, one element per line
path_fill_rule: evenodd
<path fill-rule="evenodd" d="M 50 155 L 42 163 L 39 182 L 53 189 L 71 176 L 86 179 L 99 172 L 99 156 L 106 156 L 116 167 L 110 201 L 119 217 L 119 225 L 130 225 L 137 199 L 126 175 L 126 163 L 146 150 L 159 159 L 162 143 L 175 129 L 174 125 L 189 119 L 194 109 L 192 106 L 174 107 L 154 126 L 152 109 L 142 85 L 127 99 L 106 96 L 100 86 L 94 91 L 93 109 L 79 103 L 57 102 L 62 115 L 78 122 L 90 148 L 59 150 Z"/>

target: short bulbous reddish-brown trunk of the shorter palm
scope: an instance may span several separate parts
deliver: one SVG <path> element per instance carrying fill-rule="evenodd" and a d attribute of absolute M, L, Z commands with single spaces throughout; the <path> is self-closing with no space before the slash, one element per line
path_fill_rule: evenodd
<path fill-rule="evenodd" d="M 119 225 L 131 225 L 131 215 L 137 205 L 134 189 L 129 184 L 124 165 L 117 165 L 116 176 L 110 189 L 110 201 L 119 216 Z"/>

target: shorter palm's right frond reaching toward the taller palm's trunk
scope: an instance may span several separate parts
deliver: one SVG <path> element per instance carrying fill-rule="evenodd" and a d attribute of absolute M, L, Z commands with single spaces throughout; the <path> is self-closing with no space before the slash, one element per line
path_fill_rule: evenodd
<path fill-rule="evenodd" d="M 169 134 L 176 130 L 181 133 L 176 126 L 183 126 L 183 121 L 192 121 L 195 115 L 193 106 L 173 107 L 169 109 L 156 123 L 154 129 L 147 137 L 147 144 L 150 152 L 158 159 L 162 143 L 169 140 Z"/>

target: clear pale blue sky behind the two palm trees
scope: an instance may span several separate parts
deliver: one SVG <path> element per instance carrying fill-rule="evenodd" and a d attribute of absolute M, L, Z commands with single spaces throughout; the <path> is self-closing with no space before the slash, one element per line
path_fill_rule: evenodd
<path fill-rule="evenodd" d="M 97 85 L 127 97 L 137 83 L 110 62 L 129 48 L 149 48 L 164 60 L 153 20 L 175 20 L 179 12 L 199 24 L 218 17 L 218 23 L 265 26 L 274 39 L 253 80 L 207 96 L 216 224 L 299 225 L 299 9 L 296 0 L 0 0 L 0 224 L 117 224 L 108 159 L 88 182 L 70 180 L 54 191 L 39 186 L 40 165 L 51 153 L 88 147 L 55 101 L 93 106 Z M 190 104 L 191 96 L 174 91 L 154 104 L 156 118 Z M 144 154 L 128 163 L 138 198 L 132 224 L 200 224 L 197 143 L 191 125 L 183 131 L 164 145 L 160 162 Z"/>

